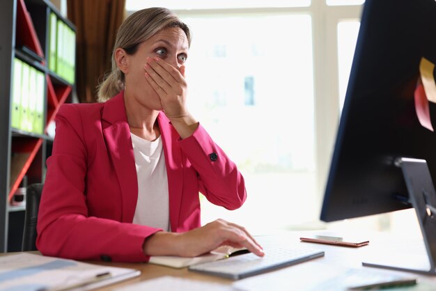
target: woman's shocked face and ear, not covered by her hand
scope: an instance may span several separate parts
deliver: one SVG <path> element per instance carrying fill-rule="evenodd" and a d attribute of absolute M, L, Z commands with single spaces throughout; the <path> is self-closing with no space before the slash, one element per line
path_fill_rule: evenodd
<path fill-rule="evenodd" d="M 139 104 L 152 110 L 162 110 L 157 93 L 148 84 L 144 66 L 147 58 L 162 58 L 180 71 L 185 65 L 188 54 L 186 34 L 178 27 L 164 29 L 142 42 L 134 55 L 125 54 L 125 64 L 121 62 L 121 70 L 125 71 L 125 92 L 129 98 L 135 98 Z"/>

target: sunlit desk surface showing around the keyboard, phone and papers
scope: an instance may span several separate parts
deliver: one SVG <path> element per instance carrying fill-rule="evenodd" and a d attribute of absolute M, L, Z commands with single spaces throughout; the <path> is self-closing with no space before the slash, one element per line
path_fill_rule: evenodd
<path fill-rule="evenodd" d="M 313 233 L 313 232 L 311 232 Z M 329 278 L 337 277 L 341 270 L 349 268 L 357 269 L 371 269 L 375 272 L 389 272 L 390 274 L 408 274 L 419 278 L 423 284 L 421 285 L 435 285 L 436 276 L 425 276 L 413 274 L 409 272 L 396 272 L 387 271 L 384 269 L 362 267 L 361 262 L 367 260 L 371 255 L 384 255 L 393 250 L 396 253 L 405 253 L 405 255 L 413 253 L 414 251 L 424 251 L 421 247 L 419 239 L 407 239 L 402 237 L 392 237 L 391 235 L 383 233 L 373 233 L 367 235 L 370 240 L 368 246 L 361 246 L 359 248 L 350 248 L 345 246 L 331 246 L 326 244 L 314 244 L 307 242 L 299 242 L 299 237 L 304 236 L 306 232 L 293 232 L 283 233 L 281 235 L 268 235 L 256 237 L 260 244 L 296 244 L 297 246 L 304 246 L 311 249 L 321 249 L 325 251 L 325 256 L 316 258 L 309 262 L 304 262 L 299 265 L 291 267 L 284 267 L 274 272 L 261 274 L 250 278 L 245 278 L 240 281 L 232 281 L 226 278 L 219 278 L 216 276 L 209 276 L 205 274 L 198 274 L 189 272 L 184 269 L 173 269 L 169 267 L 162 267 L 158 265 L 151 265 L 146 263 L 116 263 L 116 262 L 90 262 L 97 265 L 109 265 L 111 267 L 125 267 L 131 269 L 138 269 L 141 271 L 141 276 L 133 278 L 124 282 L 109 285 L 98 290 L 113 290 L 117 287 L 138 283 L 160 276 L 175 276 L 179 278 L 189 278 L 196 281 L 206 281 L 221 283 L 224 285 L 241 286 L 244 290 L 308 290 L 308 282 L 322 282 Z M 418 287 L 419 285 L 416 285 Z M 309 288 L 309 290 L 315 290 Z M 403 290 L 403 289 L 402 289 Z M 421 288 L 407 288 L 407 290 L 431 290 Z"/>

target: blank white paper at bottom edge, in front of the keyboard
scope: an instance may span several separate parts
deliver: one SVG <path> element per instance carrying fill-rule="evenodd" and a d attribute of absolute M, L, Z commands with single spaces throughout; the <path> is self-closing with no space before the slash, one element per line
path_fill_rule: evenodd
<path fill-rule="evenodd" d="M 235 288 L 231 285 L 218 283 L 209 283 L 203 281 L 195 281 L 186 278 L 178 278 L 173 276 L 163 276 L 140 283 L 134 283 L 124 288 L 116 288 L 116 291 L 142 291 L 142 290 L 189 290 L 189 291 L 238 291 L 242 289 Z"/>

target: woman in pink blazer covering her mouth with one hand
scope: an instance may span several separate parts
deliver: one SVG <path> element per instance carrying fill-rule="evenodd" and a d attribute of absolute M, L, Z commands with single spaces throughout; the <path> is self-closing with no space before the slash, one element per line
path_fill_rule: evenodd
<path fill-rule="evenodd" d="M 229 210 L 244 179 L 187 111 L 188 27 L 164 8 L 120 26 L 101 103 L 64 104 L 38 215 L 38 249 L 78 260 L 146 262 L 221 245 L 262 248 L 224 220 L 201 227 L 198 191 Z"/>

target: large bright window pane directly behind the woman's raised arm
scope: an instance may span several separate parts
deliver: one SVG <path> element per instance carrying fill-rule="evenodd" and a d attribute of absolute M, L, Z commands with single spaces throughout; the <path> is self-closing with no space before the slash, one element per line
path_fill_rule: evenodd
<path fill-rule="evenodd" d="M 244 226 L 267 227 L 262 209 L 277 210 L 270 219 L 283 226 L 313 219 L 299 211 L 316 198 L 311 17 L 183 20 L 194 33 L 189 110 L 238 164 L 249 196 L 233 212 L 203 200 L 203 221 L 231 215 Z"/>

